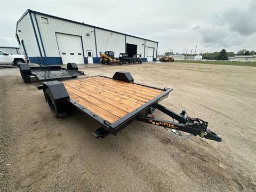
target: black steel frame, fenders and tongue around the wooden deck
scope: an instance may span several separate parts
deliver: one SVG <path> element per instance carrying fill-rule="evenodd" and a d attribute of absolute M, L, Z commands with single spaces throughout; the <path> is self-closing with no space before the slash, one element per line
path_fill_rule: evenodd
<path fill-rule="evenodd" d="M 100 128 L 97 130 L 94 130 L 93 134 L 97 138 L 103 138 L 106 137 L 109 133 L 116 135 L 119 131 L 124 129 L 127 125 L 129 125 L 131 122 L 134 120 L 137 121 L 142 121 L 145 123 L 153 124 L 153 125 L 158 125 L 170 129 L 175 129 L 187 133 L 191 133 L 193 135 L 199 135 L 199 137 L 205 138 L 205 139 L 211 139 L 215 141 L 222 141 L 221 137 L 211 130 L 207 129 L 208 123 L 199 119 L 199 118 L 190 118 L 190 117 L 185 117 L 186 111 L 182 110 L 181 114 L 175 113 L 174 111 L 171 111 L 170 109 L 165 108 L 164 106 L 159 104 L 159 101 L 163 100 L 164 98 L 168 97 L 169 93 L 173 89 L 169 88 L 164 88 L 164 89 L 159 89 L 153 86 L 148 86 L 148 85 L 142 85 L 142 84 L 137 84 L 133 83 L 133 78 L 130 75 L 130 73 L 126 71 L 117 71 L 116 74 L 113 76 L 113 78 L 109 78 L 106 76 L 94 76 L 94 77 L 103 77 L 103 78 L 108 78 L 108 79 L 116 79 L 119 81 L 124 81 L 124 82 L 129 82 L 132 84 L 136 85 L 141 85 L 145 87 L 150 87 L 153 89 L 161 90 L 163 91 L 161 94 L 159 94 L 157 97 L 154 99 L 150 99 L 148 102 L 145 104 L 141 105 L 137 109 L 133 110 L 131 113 L 125 115 L 124 117 L 118 119 L 114 123 L 109 123 L 106 121 L 106 119 L 103 119 L 99 115 L 93 113 L 91 110 L 87 109 L 85 106 L 82 106 L 79 104 L 77 101 L 71 99 L 68 95 L 67 90 L 65 89 L 65 86 L 63 83 L 58 82 L 58 81 L 51 81 L 51 82 L 44 82 L 43 85 L 38 86 L 38 90 L 43 89 L 46 102 L 53 102 L 54 106 L 57 106 L 55 110 L 58 110 L 58 105 L 63 107 L 66 106 L 68 103 L 71 106 L 74 106 L 75 108 L 79 109 L 82 111 L 83 114 L 86 116 L 90 117 L 93 119 L 95 122 L 97 122 L 100 125 Z M 86 79 L 86 78 L 83 78 Z M 69 81 L 67 81 L 69 82 Z M 50 89 L 52 93 L 52 100 L 49 101 L 47 100 L 47 95 L 46 95 L 46 89 Z M 59 104 L 61 103 L 61 104 Z M 153 114 L 154 110 L 160 110 L 162 113 L 170 116 L 172 119 L 175 119 L 177 122 L 174 121 L 166 121 L 162 119 L 157 119 L 153 117 L 148 117 L 149 114 Z M 62 109 L 58 111 L 58 113 L 62 113 Z"/>

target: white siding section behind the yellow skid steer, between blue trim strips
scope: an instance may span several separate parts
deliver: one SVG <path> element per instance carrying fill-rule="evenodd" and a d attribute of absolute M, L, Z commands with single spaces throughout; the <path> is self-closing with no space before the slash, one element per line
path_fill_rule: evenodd
<path fill-rule="evenodd" d="M 116 58 L 119 57 L 119 53 L 125 52 L 125 35 L 97 28 L 95 28 L 95 34 L 97 39 L 98 57 L 100 57 L 100 51 L 114 51 Z"/>

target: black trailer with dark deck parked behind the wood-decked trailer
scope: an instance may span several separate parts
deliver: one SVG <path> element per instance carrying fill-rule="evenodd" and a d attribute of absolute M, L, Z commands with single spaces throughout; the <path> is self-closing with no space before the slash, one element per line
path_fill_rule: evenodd
<path fill-rule="evenodd" d="M 39 81 L 60 79 L 60 78 L 76 78 L 84 75 L 83 71 L 78 71 L 76 63 L 68 63 L 67 69 L 61 66 L 40 66 L 29 67 L 28 63 L 20 63 L 20 74 L 24 83 L 30 83 L 32 77 Z"/>

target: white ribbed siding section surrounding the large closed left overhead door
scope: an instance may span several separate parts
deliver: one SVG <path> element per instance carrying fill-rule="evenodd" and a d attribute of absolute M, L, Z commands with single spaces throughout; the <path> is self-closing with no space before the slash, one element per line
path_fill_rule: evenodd
<path fill-rule="evenodd" d="M 93 27 L 78 25 L 77 23 L 51 17 L 46 17 L 49 24 L 45 24 L 42 22 L 42 17 L 45 16 L 36 14 L 36 17 L 39 30 L 41 31 L 46 57 L 60 57 L 55 32 L 82 36 L 84 50 L 92 50 L 93 57 L 96 57 Z M 87 36 L 87 33 L 90 35 Z"/>

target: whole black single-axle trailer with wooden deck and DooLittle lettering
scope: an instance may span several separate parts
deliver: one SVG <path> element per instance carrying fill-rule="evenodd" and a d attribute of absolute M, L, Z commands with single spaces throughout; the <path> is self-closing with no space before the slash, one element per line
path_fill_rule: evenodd
<path fill-rule="evenodd" d="M 44 82 L 38 86 L 39 89 L 43 89 L 46 102 L 55 117 L 66 116 L 71 105 L 97 122 L 99 129 L 93 132 L 97 138 L 106 137 L 109 133 L 116 135 L 137 120 L 221 141 L 220 136 L 207 129 L 207 122 L 185 116 L 185 110 L 177 114 L 159 104 L 173 89 L 133 83 L 131 74 L 126 71 L 116 72 L 113 78 L 93 76 Z M 170 116 L 173 121 L 154 118 L 156 109 Z"/>

